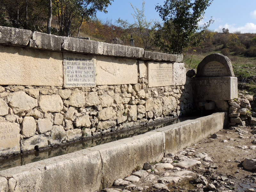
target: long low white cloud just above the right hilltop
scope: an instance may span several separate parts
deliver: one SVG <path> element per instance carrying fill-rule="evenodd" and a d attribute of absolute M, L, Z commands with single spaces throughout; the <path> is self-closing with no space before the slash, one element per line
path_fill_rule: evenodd
<path fill-rule="evenodd" d="M 222 28 L 228 28 L 230 33 L 234 31 L 241 31 L 241 33 L 256 33 L 256 24 L 254 23 L 246 23 L 242 27 L 236 27 L 236 24 L 229 25 L 226 23 L 225 25 L 220 25 L 215 31 L 219 31 L 219 29 L 222 30 Z"/>

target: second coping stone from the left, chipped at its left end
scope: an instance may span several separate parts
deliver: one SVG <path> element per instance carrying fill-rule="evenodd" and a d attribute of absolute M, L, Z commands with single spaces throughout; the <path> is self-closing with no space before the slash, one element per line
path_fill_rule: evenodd
<path fill-rule="evenodd" d="M 33 32 L 32 39 L 29 41 L 29 47 L 57 51 L 61 50 L 61 44 L 63 44 L 62 36 L 49 35 L 39 32 Z"/>

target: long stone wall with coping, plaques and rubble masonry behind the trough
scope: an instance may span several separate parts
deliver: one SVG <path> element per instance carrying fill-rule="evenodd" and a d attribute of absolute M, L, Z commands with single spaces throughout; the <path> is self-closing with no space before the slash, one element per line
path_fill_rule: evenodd
<path fill-rule="evenodd" d="M 0 57 L 0 157 L 150 124 L 193 108 L 182 55 L 0 27 Z M 70 60 L 74 66 L 67 66 Z M 85 68 L 82 61 L 92 71 L 76 71 Z M 92 82 L 70 83 L 80 72 Z"/>

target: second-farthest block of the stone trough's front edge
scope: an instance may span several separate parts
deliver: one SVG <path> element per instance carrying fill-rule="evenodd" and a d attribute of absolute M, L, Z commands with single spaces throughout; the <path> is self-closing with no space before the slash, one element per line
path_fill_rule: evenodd
<path fill-rule="evenodd" d="M 203 139 L 199 120 L 187 120 L 177 124 L 156 129 L 164 134 L 164 152 L 175 153 Z"/>

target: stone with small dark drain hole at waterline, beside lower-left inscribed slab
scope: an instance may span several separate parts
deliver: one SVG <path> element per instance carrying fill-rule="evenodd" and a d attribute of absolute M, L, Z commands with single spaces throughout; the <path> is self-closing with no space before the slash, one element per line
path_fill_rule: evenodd
<path fill-rule="evenodd" d="M 21 141 L 21 152 L 48 147 L 48 140 L 44 135 L 35 135 Z"/>

